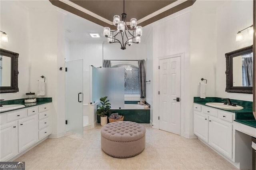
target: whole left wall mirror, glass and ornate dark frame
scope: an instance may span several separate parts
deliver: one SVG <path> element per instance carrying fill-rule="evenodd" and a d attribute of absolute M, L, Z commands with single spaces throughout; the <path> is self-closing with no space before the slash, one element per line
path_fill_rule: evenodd
<path fill-rule="evenodd" d="M 0 93 L 19 91 L 18 56 L 18 53 L 0 48 Z"/>

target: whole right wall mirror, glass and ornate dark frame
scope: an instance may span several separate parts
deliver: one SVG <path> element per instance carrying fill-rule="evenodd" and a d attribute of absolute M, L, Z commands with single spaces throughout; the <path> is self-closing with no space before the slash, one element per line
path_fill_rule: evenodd
<path fill-rule="evenodd" d="M 252 94 L 252 54 L 252 45 L 225 54 L 226 92 Z"/>

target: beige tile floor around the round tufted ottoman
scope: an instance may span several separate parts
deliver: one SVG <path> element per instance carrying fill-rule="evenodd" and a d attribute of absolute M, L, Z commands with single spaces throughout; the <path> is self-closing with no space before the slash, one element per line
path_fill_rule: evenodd
<path fill-rule="evenodd" d="M 103 170 L 103 169 L 194 169 L 235 170 L 198 139 L 146 127 L 145 150 L 132 158 L 113 158 L 100 148 L 100 128 L 84 130 L 84 136 L 71 134 L 48 138 L 15 161 L 25 161 L 26 170 Z"/>

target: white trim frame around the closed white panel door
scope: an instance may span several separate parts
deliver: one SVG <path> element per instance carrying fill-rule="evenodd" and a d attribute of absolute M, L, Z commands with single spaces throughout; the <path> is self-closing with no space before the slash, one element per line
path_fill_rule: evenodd
<path fill-rule="evenodd" d="M 185 59 L 184 59 L 185 53 L 177 53 L 177 54 L 172 54 L 172 55 L 166 55 L 163 57 L 157 57 L 157 61 L 158 61 L 158 65 L 159 65 L 159 61 L 161 59 L 168 59 L 168 58 L 173 58 L 173 57 L 180 57 L 180 136 L 184 136 L 184 108 L 185 108 L 185 103 L 183 102 L 185 99 L 185 95 L 184 95 L 184 77 L 185 77 Z M 159 87 L 159 82 L 160 82 L 160 76 L 159 76 L 159 69 L 158 69 L 158 83 L 157 84 L 157 89 L 158 91 L 160 90 Z M 158 101 L 158 108 L 157 109 L 157 115 L 159 117 L 159 100 L 160 97 L 159 95 L 157 95 L 157 101 Z M 159 123 L 160 121 L 158 120 L 158 129 L 159 129 Z"/>

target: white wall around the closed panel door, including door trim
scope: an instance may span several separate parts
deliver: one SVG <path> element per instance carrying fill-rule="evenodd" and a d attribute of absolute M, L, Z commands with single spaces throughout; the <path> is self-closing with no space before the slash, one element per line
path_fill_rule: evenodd
<path fill-rule="evenodd" d="M 181 135 L 193 135 L 190 105 L 190 12 L 188 9 L 166 17 L 153 24 L 153 125 L 159 128 L 159 71 L 158 58 L 174 54 L 182 54 L 181 58 L 181 112 L 184 117 Z"/>

